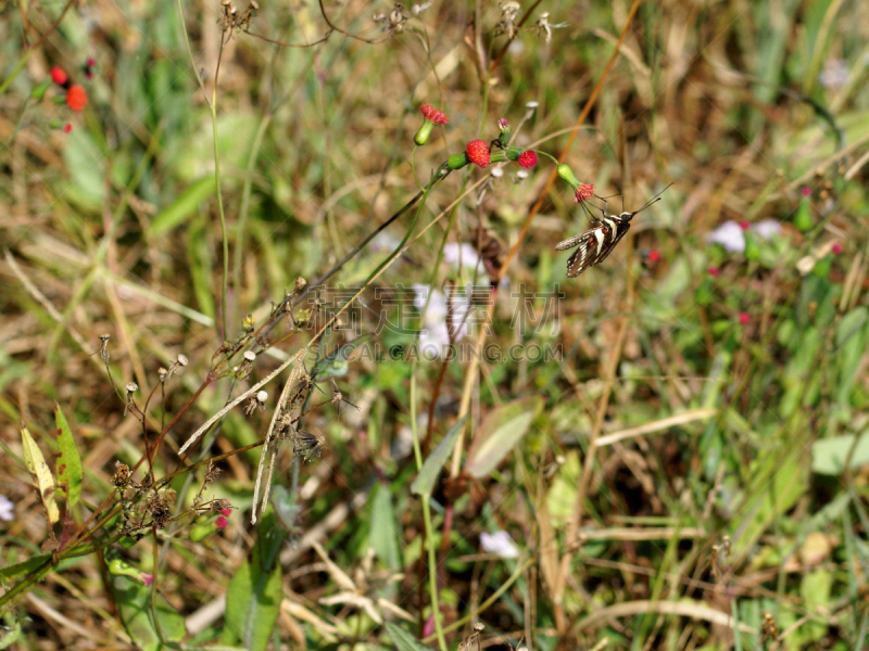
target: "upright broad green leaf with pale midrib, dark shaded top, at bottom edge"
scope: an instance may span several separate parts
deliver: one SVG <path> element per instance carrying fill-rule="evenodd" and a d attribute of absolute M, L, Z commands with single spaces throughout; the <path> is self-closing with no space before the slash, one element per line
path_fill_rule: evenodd
<path fill-rule="evenodd" d="M 269 509 L 257 528 L 253 553 L 238 569 L 226 593 L 224 642 L 240 642 L 249 651 L 264 651 L 280 611 L 281 575 L 277 562 L 287 537 Z"/>

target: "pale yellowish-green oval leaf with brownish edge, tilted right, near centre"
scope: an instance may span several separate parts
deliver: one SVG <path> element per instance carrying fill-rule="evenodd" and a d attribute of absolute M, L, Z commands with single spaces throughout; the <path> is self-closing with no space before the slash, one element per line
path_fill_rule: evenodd
<path fill-rule="evenodd" d="M 465 464 L 467 473 L 478 480 L 489 475 L 526 435 L 542 408 L 543 399 L 532 396 L 493 409 L 474 437 Z"/>

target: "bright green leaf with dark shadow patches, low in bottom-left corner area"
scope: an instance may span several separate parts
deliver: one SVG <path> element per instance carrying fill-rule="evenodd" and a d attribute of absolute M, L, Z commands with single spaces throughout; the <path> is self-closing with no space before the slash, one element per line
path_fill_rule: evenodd
<path fill-rule="evenodd" d="M 130 637 L 136 641 L 137 648 L 144 649 L 144 651 L 159 651 L 165 648 L 154 627 L 153 612 L 156 612 L 158 625 L 164 640 L 177 642 L 184 639 L 187 635 L 184 617 L 172 608 L 172 604 L 159 590 L 155 592 L 156 608 L 152 608 L 151 588 L 141 580 L 129 576 L 137 572 L 131 565 L 114 559 L 106 566 L 112 575 L 111 584 L 117 614 Z"/>

